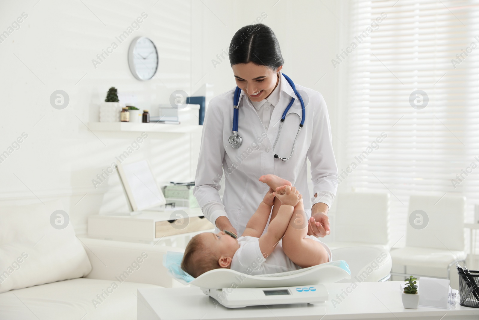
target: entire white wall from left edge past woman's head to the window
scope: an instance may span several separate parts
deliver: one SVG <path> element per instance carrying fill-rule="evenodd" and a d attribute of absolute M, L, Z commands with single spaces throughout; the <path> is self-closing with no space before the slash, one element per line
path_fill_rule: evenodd
<path fill-rule="evenodd" d="M 0 32 L 23 12 L 28 17 L 20 28 L 0 43 L 0 152 L 28 134 L 20 149 L 0 163 L 1 204 L 60 197 L 77 233 L 85 232 L 89 214 L 126 210 L 115 175 L 97 189 L 91 182 L 140 134 L 87 129 L 86 123 L 98 121 L 108 88 L 115 86 L 122 102 L 149 108 L 152 114 L 177 89 L 193 94 L 211 83 L 215 95 L 228 91 L 235 85 L 228 59 L 216 68 L 212 59 L 227 51 L 233 34 L 262 12 L 267 14 L 263 23 L 279 39 L 283 71 L 324 95 L 332 132 L 341 137 L 340 73 L 331 59 L 341 47 L 340 20 L 346 21 L 336 1 L 11 1 L 0 4 Z M 95 68 L 92 59 L 142 12 L 148 17 L 139 29 Z M 148 36 L 159 51 L 159 70 L 148 82 L 137 81 L 128 68 L 127 50 L 135 36 Z M 58 89 L 70 98 L 63 110 L 49 103 Z M 198 141 L 190 134 L 148 133 L 127 161 L 147 158 L 160 184 L 193 180 Z M 337 153 L 340 143 L 333 137 Z"/>

